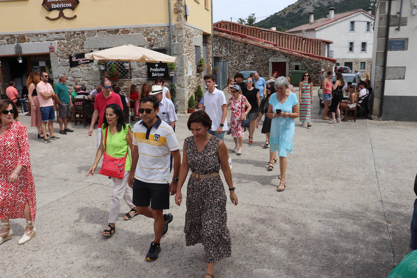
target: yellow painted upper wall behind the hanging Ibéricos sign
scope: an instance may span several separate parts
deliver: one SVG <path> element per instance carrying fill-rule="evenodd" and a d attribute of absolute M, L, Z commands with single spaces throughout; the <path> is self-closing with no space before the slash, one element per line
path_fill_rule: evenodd
<path fill-rule="evenodd" d="M 188 23 L 211 33 L 211 13 L 195 0 L 190 5 Z M 211 0 L 208 8 L 211 7 Z M 58 10 L 48 12 L 42 0 L 0 1 L 0 33 L 32 30 L 56 30 L 116 25 L 168 23 L 168 0 L 80 0 L 75 10 L 63 10 L 65 16 L 77 15 L 67 20 L 56 18 Z M 171 0 L 172 22 L 176 23 L 174 2 Z"/>

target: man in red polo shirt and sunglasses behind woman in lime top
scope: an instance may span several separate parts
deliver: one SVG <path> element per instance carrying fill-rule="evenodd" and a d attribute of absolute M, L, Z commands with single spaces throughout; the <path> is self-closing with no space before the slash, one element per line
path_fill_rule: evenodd
<path fill-rule="evenodd" d="M 120 96 L 116 93 L 111 91 L 111 82 L 107 78 L 103 78 L 101 80 L 101 87 L 103 91 L 98 93 L 95 97 L 94 103 L 94 113 L 93 119 L 91 120 L 90 128 L 88 129 L 88 136 L 91 136 L 93 133 L 94 123 L 98 118 L 98 126 L 97 126 L 97 148 L 100 147 L 101 142 L 101 125 L 103 125 L 103 117 L 104 113 L 106 112 L 106 106 L 115 103 L 120 106 L 123 110 L 122 100 Z"/>

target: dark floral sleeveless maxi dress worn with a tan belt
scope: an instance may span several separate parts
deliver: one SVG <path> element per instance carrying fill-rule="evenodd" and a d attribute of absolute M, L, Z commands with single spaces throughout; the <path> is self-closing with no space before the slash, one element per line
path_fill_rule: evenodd
<path fill-rule="evenodd" d="M 188 165 L 193 173 L 207 175 L 220 170 L 219 142 L 220 139 L 212 135 L 200 153 L 194 136 L 185 139 Z M 203 243 L 207 263 L 215 263 L 231 255 L 226 200 L 220 176 L 196 180 L 191 175 L 188 179 L 184 227 L 186 245 Z"/>

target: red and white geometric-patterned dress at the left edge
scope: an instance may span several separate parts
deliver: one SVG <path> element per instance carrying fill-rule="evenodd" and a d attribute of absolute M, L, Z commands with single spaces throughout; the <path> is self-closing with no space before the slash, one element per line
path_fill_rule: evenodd
<path fill-rule="evenodd" d="M 17 165 L 23 165 L 14 183 L 8 177 Z M 24 218 L 26 201 L 35 221 L 36 195 L 30 168 L 28 130 L 23 123 L 13 121 L 0 136 L 0 219 Z"/>

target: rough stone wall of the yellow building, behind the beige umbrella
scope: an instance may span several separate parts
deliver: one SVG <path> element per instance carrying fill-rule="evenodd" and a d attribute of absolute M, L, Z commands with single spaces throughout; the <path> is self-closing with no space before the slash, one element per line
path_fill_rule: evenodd
<path fill-rule="evenodd" d="M 194 45 L 202 45 L 203 32 L 196 28 L 185 25 L 182 16 L 183 0 L 177 0 L 178 5 L 175 11 L 177 13 L 177 23 L 173 28 L 173 55 L 176 60 L 176 97 L 178 111 L 186 111 L 186 103 L 190 94 L 195 90 L 198 84 L 202 84 L 202 74 L 196 73 L 195 68 L 195 50 Z M 178 21 L 178 19 L 180 19 Z M 51 70 L 54 82 L 58 82 L 58 74 L 64 73 L 68 80 L 68 90 L 72 91 L 74 85 L 86 85 L 87 90 L 93 90 L 100 83 L 100 69 L 97 60 L 93 63 L 69 67 L 69 55 L 78 53 L 89 53 L 90 51 L 99 50 L 99 48 L 112 48 L 114 46 L 132 44 L 150 49 L 166 49 L 170 55 L 171 46 L 169 40 L 168 26 L 162 27 L 141 27 L 126 29 L 106 29 L 91 31 L 68 31 L 54 33 L 39 33 L 26 35 L 0 35 L 1 45 L 13 45 L 19 41 L 21 45 L 30 43 L 46 42 L 55 45 L 55 52 L 50 53 Z M 211 46 L 211 45 L 210 45 Z M 44 50 L 40 52 L 45 52 Z M 211 53 L 211 47 L 207 47 L 207 53 Z M 207 60 L 208 61 L 208 60 Z M 210 61 L 211 63 L 211 58 Z M 188 63 L 193 63 L 191 76 L 188 75 Z M 211 69 L 211 66 L 210 66 Z M 131 83 L 140 87 L 143 83 L 152 83 L 154 80 L 147 78 L 146 63 L 131 63 Z M 165 80 L 168 86 L 171 80 Z M 112 81 L 117 83 L 122 91 L 127 92 L 130 84 L 127 79 Z"/>

